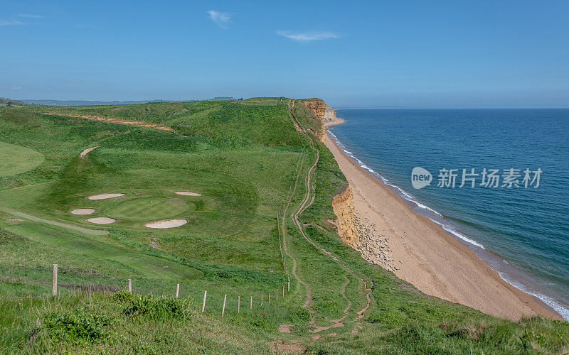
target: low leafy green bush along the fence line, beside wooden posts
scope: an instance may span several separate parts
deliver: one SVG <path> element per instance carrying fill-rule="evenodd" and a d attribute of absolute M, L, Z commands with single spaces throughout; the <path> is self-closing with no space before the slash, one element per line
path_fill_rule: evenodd
<path fill-rule="evenodd" d="M 132 317 L 147 317 L 151 320 L 164 320 L 170 318 L 191 317 L 193 300 L 184 300 L 169 296 L 154 297 L 153 295 L 137 295 L 129 293 L 117 293 L 117 300 L 128 302 L 124 309 L 125 315 Z"/>

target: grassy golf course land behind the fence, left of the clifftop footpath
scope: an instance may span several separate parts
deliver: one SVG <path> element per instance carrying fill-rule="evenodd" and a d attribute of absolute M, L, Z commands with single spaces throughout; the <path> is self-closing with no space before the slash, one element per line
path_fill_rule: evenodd
<path fill-rule="evenodd" d="M 116 285 L 117 276 L 123 278 L 119 284 L 126 278 L 137 279 L 134 284 L 144 293 L 161 293 L 168 283 L 182 283 L 181 292 L 196 298 L 206 288 L 216 297 L 243 289 L 267 292 L 282 285 L 276 215 L 289 192 L 304 143 L 284 99 L 258 105 L 164 102 L 49 110 L 50 115 L 36 108 L 0 111 L 0 141 L 14 143 L 1 146 L 4 155 L 19 152 L 18 156 L 28 157 L 9 159 L 11 173 L 33 168 L 31 163 L 46 157 L 44 164 L 26 174 L 0 176 L 0 231 L 18 240 L 2 248 L 18 250 L 18 244 L 32 241 L 42 244 L 29 253 L 6 254 L 0 267 L 14 263 L 46 267 L 58 261 L 62 270 L 74 270 L 65 273 L 71 281 L 86 272 L 82 268 L 92 266 L 87 273 L 100 275 L 99 281 L 92 282 Z M 169 125 L 177 133 L 65 114 Z M 93 146 L 99 148 L 79 156 Z M 87 198 L 108 193 L 124 195 Z M 71 213 L 75 209 L 95 212 Z M 16 221 L 15 212 L 37 220 Z M 87 221 L 103 217 L 116 222 Z M 171 229 L 144 226 L 164 219 L 187 223 Z M 107 234 L 85 234 L 42 220 Z M 65 261 L 60 260 L 63 255 Z M 11 275 L 30 282 L 45 278 L 26 276 L 24 270 L 15 269 Z M 193 281 L 186 284 L 188 275 Z M 240 288 L 233 288 L 231 283 L 237 282 Z M 223 288 L 208 286 L 219 283 Z M 18 292 L 31 288 L 23 283 Z"/>

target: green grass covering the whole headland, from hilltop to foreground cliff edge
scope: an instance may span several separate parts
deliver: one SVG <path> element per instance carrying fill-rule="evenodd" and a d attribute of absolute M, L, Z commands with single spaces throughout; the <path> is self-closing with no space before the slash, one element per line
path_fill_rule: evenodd
<path fill-rule="evenodd" d="M 206 315 L 192 321 L 145 320 L 124 315 L 123 305 L 110 295 L 75 295 L 69 285 L 60 287 L 60 300 L 7 299 L 0 304 L 0 327 L 6 337 L 0 349 L 31 352 L 65 351 L 193 351 L 266 352 L 275 339 L 305 339 L 311 352 L 554 352 L 568 351 L 566 322 L 535 318 L 519 324 L 483 315 L 461 305 L 427 297 L 382 268 L 371 266 L 341 243 L 326 219 L 334 219 L 331 197 L 346 182 L 324 146 L 314 175 L 316 198 L 301 219 L 324 227 L 305 231 L 317 245 L 333 253 L 351 270 L 317 251 L 287 220 L 289 250 L 297 273 L 312 291 L 310 308 L 316 322 L 344 315 L 344 327 L 329 329 L 315 342 L 307 341 L 309 313 L 301 305 L 305 289 L 293 279 L 285 299 L 267 305 L 267 293 L 284 283 L 276 214 L 289 193 L 299 165 L 301 179 L 292 197 L 296 206 L 304 195 L 304 177 L 316 157 L 306 137 L 294 131 L 284 99 L 250 99 L 244 102 L 150 103 L 105 107 L 61 107 L 62 114 L 80 113 L 148 121 L 172 126 L 179 133 L 109 124 L 68 116 L 38 114 L 41 109 L 1 109 L 0 141 L 32 148 L 46 160 L 36 169 L 0 177 L 0 296 L 48 293 L 50 271 L 59 263 L 60 282 L 96 283 L 107 289 L 124 288 L 133 279 L 138 293 L 171 294 L 181 283 L 181 297 L 201 301 L 208 290 Z M 319 121 L 302 107 L 295 116 L 303 126 L 318 129 Z M 78 153 L 101 146 L 87 158 Z M 172 195 L 174 190 L 200 192 L 203 197 Z M 124 192 L 116 200 L 89 201 L 87 195 Z M 176 205 L 171 217 L 185 217 L 178 229 L 149 231 L 137 216 L 124 213 L 134 205 L 143 214 L 148 200 Z M 147 205 L 148 208 L 144 209 Z M 95 207 L 93 216 L 111 215 L 118 221 L 105 229 L 107 236 L 79 232 L 37 222 L 9 222 L 10 210 L 44 219 L 70 222 L 86 228 L 70 209 Z M 121 211 L 123 211 L 121 213 Z M 326 231 L 327 229 L 327 231 Z M 149 245 L 156 238 L 159 249 Z M 292 260 L 287 258 L 287 265 Z M 373 280 L 372 302 L 362 328 L 352 329 L 356 311 L 366 305 L 366 292 L 358 278 Z M 24 283 L 21 283 L 24 281 Z M 35 282 L 35 283 L 31 283 Z M 344 290 L 345 286 L 345 292 Z M 219 319 L 223 294 L 228 295 L 225 321 Z M 260 294 L 265 305 L 258 305 Z M 255 297 L 255 310 L 235 313 L 238 295 Z M 345 297 L 344 297 L 345 295 Z M 51 308 L 50 308 L 51 307 Z M 60 341 L 36 320 L 50 312 L 75 309 L 112 315 L 114 333 L 105 341 L 83 338 Z M 294 334 L 280 334 L 279 324 L 294 324 Z M 216 334 L 212 334 L 216 329 Z M 28 344 L 30 334 L 36 334 Z M 189 334 L 189 335 L 188 335 Z M 62 345 L 63 344 L 63 345 Z M 246 348 L 244 346 L 247 346 Z"/>

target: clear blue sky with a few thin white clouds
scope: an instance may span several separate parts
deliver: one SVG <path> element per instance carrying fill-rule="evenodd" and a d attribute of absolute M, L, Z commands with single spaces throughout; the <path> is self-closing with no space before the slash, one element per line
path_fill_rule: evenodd
<path fill-rule="evenodd" d="M 0 1 L 0 97 L 569 107 L 569 1 Z"/>

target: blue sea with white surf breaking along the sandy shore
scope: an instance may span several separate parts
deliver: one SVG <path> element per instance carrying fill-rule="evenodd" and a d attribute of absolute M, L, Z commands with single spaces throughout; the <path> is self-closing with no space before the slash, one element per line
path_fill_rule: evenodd
<path fill-rule="evenodd" d="M 504 280 L 569 320 L 569 109 L 343 109 L 329 131 L 346 153 L 467 244 Z M 411 170 L 432 174 L 420 190 Z M 475 187 L 462 182 L 474 168 Z M 499 186 L 482 171 L 499 169 Z M 520 187 L 502 187 L 504 170 Z M 437 187 L 441 169 L 456 185 Z M 524 170 L 541 169 L 524 187 Z M 516 172 L 514 172 L 516 173 Z M 531 181 L 529 181 L 531 182 Z"/>

